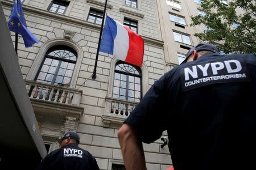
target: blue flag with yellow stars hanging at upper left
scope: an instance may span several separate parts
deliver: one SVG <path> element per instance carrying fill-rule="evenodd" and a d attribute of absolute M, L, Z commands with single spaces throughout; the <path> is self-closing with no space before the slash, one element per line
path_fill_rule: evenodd
<path fill-rule="evenodd" d="M 36 37 L 27 29 L 20 0 L 14 1 L 13 9 L 11 10 L 11 15 L 9 16 L 8 27 L 10 31 L 18 33 L 22 36 L 26 47 L 30 47 L 39 42 L 38 39 L 36 39 Z"/>

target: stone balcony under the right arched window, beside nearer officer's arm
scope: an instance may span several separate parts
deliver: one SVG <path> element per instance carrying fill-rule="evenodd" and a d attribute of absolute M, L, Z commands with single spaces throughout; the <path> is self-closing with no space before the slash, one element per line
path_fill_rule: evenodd
<path fill-rule="evenodd" d="M 113 126 L 113 128 L 119 128 L 138 104 L 138 102 L 108 96 L 105 98 L 105 101 L 105 112 L 101 116 L 101 120 L 106 128 L 109 128 L 110 125 Z"/>

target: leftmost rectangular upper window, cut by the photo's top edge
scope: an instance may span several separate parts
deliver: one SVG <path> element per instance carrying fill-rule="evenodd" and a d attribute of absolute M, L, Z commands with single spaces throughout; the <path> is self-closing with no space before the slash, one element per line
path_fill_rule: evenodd
<path fill-rule="evenodd" d="M 69 5 L 69 2 L 53 0 L 48 7 L 48 11 L 64 15 L 65 11 L 67 10 L 68 5 Z"/>

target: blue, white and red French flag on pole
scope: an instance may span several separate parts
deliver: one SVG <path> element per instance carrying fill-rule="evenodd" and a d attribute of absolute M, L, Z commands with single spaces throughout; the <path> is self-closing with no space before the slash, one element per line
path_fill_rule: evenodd
<path fill-rule="evenodd" d="M 107 15 L 100 52 L 112 54 L 122 61 L 142 66 L 144 40 L 137 33 L 115 22 Z"/>

